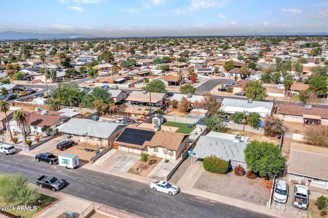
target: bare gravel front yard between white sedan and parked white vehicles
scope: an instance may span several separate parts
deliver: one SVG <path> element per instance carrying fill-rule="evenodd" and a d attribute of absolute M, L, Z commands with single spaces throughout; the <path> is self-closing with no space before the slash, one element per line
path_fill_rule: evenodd
<path fill-rule="evenodd" d="M 269 202 L 270 190 L 264 187 L 263 180 L 262 178 L 251 180 L 245 175 L 238 177 L 234 172 L 219 175 L 204 171 L 193 188 L 266 206 Z"/>

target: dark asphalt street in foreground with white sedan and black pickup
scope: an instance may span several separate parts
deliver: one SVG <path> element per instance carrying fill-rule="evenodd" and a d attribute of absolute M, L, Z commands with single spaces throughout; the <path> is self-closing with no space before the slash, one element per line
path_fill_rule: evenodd
<path fill-rule="evenodd" d="M 269 217 L 181 192 L 169 196 L 135 181 L 84 168 L 67 170 L 25 155 L 0 156 L 0 162 L 0 173 L 21 172 L 34 184 L 42 175 L 56 176 L 66 183 L 61 192 L 141 217 Z"/>

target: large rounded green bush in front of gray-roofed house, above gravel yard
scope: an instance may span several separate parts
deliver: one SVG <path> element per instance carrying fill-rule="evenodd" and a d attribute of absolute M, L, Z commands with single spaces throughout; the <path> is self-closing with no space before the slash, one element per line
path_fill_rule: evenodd
<path fill-rule="evenodd" d="M 217 158 L 215 155 L 204 158 L 203 167 L 205 170 L 215 173 L 225 174 L 229 169 L 229 161 Z"/>

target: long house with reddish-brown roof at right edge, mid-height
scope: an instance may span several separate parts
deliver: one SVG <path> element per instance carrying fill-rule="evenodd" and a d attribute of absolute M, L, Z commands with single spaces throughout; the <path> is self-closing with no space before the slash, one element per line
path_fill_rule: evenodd
<path fill-rule="evenodd" d="M 328 108 L 325 107 L 280 103 L 275 115 L 285 121 L 328 125 Z"/>

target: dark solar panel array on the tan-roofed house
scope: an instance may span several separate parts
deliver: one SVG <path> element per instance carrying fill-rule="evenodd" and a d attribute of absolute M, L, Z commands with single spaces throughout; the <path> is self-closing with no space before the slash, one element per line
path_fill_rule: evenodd
<path fill-rule="evenodd" d="M 154 135 L 155 132 L 134 128 L 126 128 L 123 133 L 116 139 L 116 141 L 143 145 L 145 141 L 150 141 Z"/>

